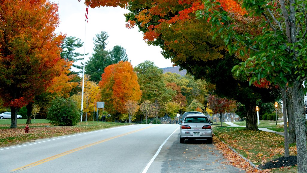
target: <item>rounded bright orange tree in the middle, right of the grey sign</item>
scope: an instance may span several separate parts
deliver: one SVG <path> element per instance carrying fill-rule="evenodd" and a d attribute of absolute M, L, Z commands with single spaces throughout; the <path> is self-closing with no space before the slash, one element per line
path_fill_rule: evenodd
<path fill-rule="evenodd" d="M 119 121 L 119 115 L 126 113 L 127 100 L 139 101 L 141 90 L 138 77 L 128 61 L 107 66 L 99 82 L 100 99 L 105 102 L 106 111 Z"/>

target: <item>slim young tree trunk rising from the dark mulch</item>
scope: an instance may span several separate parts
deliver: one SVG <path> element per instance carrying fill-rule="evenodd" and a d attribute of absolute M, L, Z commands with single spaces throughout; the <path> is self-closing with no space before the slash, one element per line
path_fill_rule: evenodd
<path fill-rule="evenodd" d="M 284 114 L 284 138 L 285 138 L 285 157 L 289 157 L 290 156 L 290 152 L 289 152 L 289 141 L 288 141 L 288 127 L 287 127 L 287 95 L 286 95 L 286 86 L 285 88 L 280 87 L 280 92 L 282 94 L 282 111 Z"/>

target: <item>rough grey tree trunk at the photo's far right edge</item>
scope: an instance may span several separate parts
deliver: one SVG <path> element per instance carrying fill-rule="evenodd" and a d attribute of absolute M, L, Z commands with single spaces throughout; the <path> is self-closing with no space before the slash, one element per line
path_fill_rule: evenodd
<path fill-rule="evenodd" d="M 307 147 L 304 90 L 299 81 L 293 84 L 292 101 L 294 103 L 295 134 L 297 147 L 297 172 L 307 172 Z"/>

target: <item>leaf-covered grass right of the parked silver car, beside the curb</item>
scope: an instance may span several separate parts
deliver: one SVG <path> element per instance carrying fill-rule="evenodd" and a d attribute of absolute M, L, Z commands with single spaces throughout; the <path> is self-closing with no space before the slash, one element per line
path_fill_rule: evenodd
<path fill-rule="evenodd" d="M 248 131 L 244 127 L 214 127 L 217 138 L 238 151 L 255 165 L 266 163 L 284 155 L 284 137 L 266 131 Z M 290 147 L 290 155 L 297 155 Z M 297 172 L 296 167 L 274 169 L 271 172 Z"/>

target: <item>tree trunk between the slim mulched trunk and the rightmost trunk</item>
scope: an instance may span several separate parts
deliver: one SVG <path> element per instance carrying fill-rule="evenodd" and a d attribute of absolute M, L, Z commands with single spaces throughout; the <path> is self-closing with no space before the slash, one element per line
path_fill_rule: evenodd
<path fill-rule="evenodd" d="M 289 96 L 287 99 L 287 116 L 288 116 L 288 122 L 289 122 L 289 143 L 295 143 L 295 120 L 294 120 L 294 105 L 292 101 L 292 93 L 291 89 L 289 91 Z"/>

